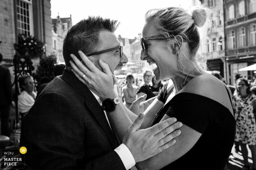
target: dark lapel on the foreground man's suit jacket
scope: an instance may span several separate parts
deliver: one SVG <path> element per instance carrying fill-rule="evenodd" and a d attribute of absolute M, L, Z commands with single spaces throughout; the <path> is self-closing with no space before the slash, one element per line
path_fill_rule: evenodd
<path fill-rule="evenodd" d="M 110 129 L 105 113 L 102 107 L 99 105 L 96 98 L 94 97 L 94 95 L 89 90 L 89 88 L 86 85 L 84 85 L 82 82 L 80 82 L 80 80 L 76 78 L 76 76 L 73 73 L 69 72 L 66 69 L 64 70 L 63 75 L 61 76 L 61 79 L 64 80 L 67 84 L 69 84 L 69 86 L 74 88 L 80 95 L 85 97 L 86 106 L 90 109 L 90 111 L 93 113 L 93 115 L 99 122 L 102 129 L 107 134 L 113 147 L 116 148 L 117 143 L 114 139 L 113 133 Z"/>

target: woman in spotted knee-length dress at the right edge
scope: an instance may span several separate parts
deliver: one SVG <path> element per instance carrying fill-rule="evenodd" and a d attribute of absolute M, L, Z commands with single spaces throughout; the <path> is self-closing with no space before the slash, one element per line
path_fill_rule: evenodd
<path fill-rule="evenodd" d="M 236 82 L 233 104 L 236 119 L 235 141 L 241 146 L 244 164 L 250 169 L 248 162 L 248 150 L 252 152 L 253 170 L 256 170 L 256 124 L 253 109 L 256 108 L 256 95 L 251 93 L 247 80 L 240 78 Z"/>

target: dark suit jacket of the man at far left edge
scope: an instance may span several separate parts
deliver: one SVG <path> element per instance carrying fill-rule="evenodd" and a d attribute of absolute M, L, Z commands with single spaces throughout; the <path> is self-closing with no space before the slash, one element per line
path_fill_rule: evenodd
<path fill-rule="evenodd" d="M 8 68 L 0 66 L 0 105 L 12 102 L 12 83 Z"/>

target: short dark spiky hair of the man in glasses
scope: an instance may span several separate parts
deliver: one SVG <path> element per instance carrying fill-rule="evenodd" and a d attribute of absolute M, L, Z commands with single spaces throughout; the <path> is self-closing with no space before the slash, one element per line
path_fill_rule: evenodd
<path fill-rule="evenodd" d="M 85 55 L 95 52 L 99 43 L 100 31 L 116 31 L 120 23 L 117 20 L 103 19 L 100 16 L 89 16 L 71 27 L 63 40 L 63 57 L 66 66 L 70 66 L 71 54 L 81 59 L 78 51 Z"/>

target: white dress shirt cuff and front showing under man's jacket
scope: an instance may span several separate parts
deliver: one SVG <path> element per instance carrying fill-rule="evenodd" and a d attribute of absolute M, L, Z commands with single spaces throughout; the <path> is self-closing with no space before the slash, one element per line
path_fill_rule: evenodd
<path fill-rule="evenodd" d="M 90 90 L 91 91 L 91 90 Z M 99 102 L 99 104 L 102 106 L 102 102 L 101 99 L 99 99 L 99 96 L 97 96 L 94 92 L 91 91 L 91 93 L 94 95 L 94 97 L 96 98 L 96 100 Z M 107 116 L 107 113 L 105 110 L 103 110 L 106 116 L 106 119 L 108 120 L 109 123 L 109 119 Z M 109 124 L 110 127 L 110 124 Z M 110 127 L 111 129 L 111 127 Z M 112 130 L 112 129 L 111 129 Z M 119 155 L 119 157 L 121 158 L 124 167 L 126 168 L 126 170 L 131 169 L 131 167 L 133 167 L 135 165 L 135 160 L 132 156 L 131 151 L 128 149 L 127 146 L 125 146 L 123 143 L 118 146 L 114 151 L 116 151 L 116 153 Z"/>

